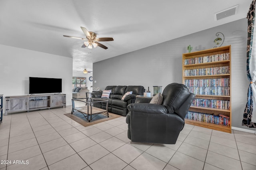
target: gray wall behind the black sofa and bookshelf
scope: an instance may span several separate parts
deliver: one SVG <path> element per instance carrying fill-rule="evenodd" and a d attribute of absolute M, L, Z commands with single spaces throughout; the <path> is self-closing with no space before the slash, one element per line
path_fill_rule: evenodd
<path fill-rule="evenodd" d="M 93 87 L 142 85 L 153 92 L 153 86 L 163 86 L 163 90 L 169 83 L 182 83 L 182 53 L 188 52 L 188 45 L 192 51 L 214 47 L 217 32 L 225 36 L 222 46 L 231 45 L 232 127 L 246 128 L 241 125 L 249 85 L 246 18 L 94 63 Z"/>

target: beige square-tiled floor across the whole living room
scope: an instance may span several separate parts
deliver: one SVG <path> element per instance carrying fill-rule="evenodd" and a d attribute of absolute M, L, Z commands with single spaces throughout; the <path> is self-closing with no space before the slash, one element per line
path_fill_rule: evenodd
<path fill-rule="evenodd" d="M 83 127 L 63 115 L 70 111 L 4 116 L 0 170 L 256 170 L 255 134 L 185 125 L 176 144 L 136 143 L 126 117 Z"/>

